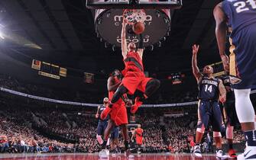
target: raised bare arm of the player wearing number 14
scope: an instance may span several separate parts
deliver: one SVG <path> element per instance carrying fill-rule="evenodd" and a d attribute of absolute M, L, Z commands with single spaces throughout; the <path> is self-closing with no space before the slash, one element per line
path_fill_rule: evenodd
<path fill-rule="evenodd" d="M 202 78 L 202 74 L 199 71 L 199 68 L 197 66 L 197 53 L 199 50 L 199 45 L 196 46 L 196 44 L 194 44 L 192 46 L 192 50 L 193 50 L 193 56 L 192 56 L 192 69 L 193 69 L 193 75 L 196 77 L 196 81 L 199 82 L 200 79 Z"/>

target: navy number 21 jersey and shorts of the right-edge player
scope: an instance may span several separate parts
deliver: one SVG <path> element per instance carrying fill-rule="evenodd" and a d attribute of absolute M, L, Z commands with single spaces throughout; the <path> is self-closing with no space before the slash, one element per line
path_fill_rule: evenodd
<path fill-rule="evenodd" d="M 241 79 L 232 88 L 256 88 L 256 1 L 225 0 L 222 10 L 232 27 L 230 75 Z"/>

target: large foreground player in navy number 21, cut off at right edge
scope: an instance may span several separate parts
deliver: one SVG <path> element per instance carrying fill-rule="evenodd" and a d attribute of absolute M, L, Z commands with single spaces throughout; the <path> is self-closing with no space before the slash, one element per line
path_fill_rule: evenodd
<path fill-rule="evenodd" d="M 256 88 L 256 2 L 254 0 L 225 0 L 214 9 L 215 34 L 219 54 L 226 71 L 237 76 L 241 82 L 232 85 L 235 92 L 235 110 L 241 129 L 244 131 L 248 147 L 238 159 L 256 159 L 256 133 L 254 128 L 254 108 L 250 100 L 251 88 Z M 225 54 L 227 26 L 232 27 L 230 55 Z"/>

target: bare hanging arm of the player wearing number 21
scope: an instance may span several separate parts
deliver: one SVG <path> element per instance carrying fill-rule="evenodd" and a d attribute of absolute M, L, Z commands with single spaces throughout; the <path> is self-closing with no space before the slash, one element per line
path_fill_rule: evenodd
<path fill-rule="evenodd" d="M 213 11 L 213 15 L 216 21 L 215 35 L 219 46 L 219 55 L 222 58 L 225 71 L 229 69 L 228 56 L 225 54 L 225 38 L 227 36 L 227 17 L 222 10 L 222 2 L 216 5 Z"/>

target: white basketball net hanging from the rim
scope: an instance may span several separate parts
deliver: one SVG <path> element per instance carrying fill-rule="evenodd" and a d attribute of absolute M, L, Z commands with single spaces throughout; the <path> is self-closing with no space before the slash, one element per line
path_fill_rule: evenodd
<path fill-rule="evenodd" d="M 144 23 L 146 16 L 147 14 L 144 9 L 125 9 L 125 11 L 123 11 L 123 18 L 126 19 L 130 25 L 137 22 Z"/>

